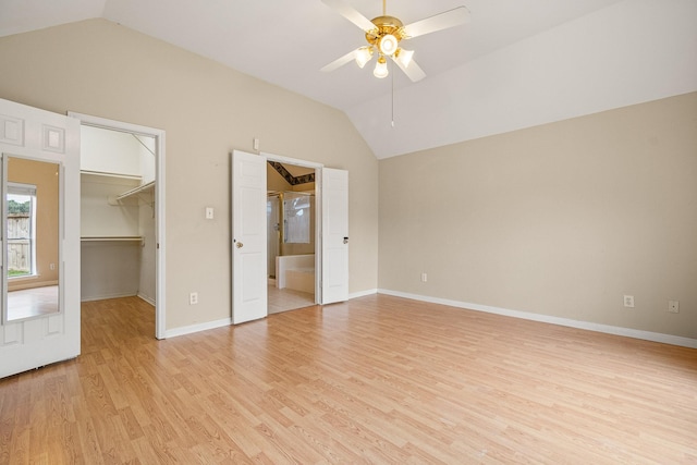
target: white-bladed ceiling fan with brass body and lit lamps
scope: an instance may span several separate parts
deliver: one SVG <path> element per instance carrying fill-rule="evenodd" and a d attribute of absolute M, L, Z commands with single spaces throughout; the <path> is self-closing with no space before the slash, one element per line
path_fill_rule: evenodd
<path fill-rule="evenodd" d="M 382 16 L 368 20 L 345 0 L 322 0 L 322 3 L 333 8 L 339 14 L 360 27 L 366 34 L 368 45 L 350 51 L 322 68 L 321 71 L 334 71 L 352 60 L 355 60 L 358 66 L 363 68 L 377 53 L 378 61 L 372 72 L 376 77 L 383 78 L 388 76 L 387 60 L 391 58 L 409 79 L 413 82 L 420 81 L 426 77 L 426 73 L 412 59 L 414 51 L 403 49 L 400 47 L 400 42 L 458 26 L 469 21 L 469 10 L 465 7 L 457 7 L 435 16 L 404 25 L 396 17 L 387 15 L 386 2 L 387 0 L 382 0 Z"/>

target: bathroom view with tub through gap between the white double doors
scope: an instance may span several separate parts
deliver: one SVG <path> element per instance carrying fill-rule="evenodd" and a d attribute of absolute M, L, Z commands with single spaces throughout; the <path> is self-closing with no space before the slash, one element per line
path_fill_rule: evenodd
<path fill-rule="evenodd" d="M 317 303 L 315 168 L 267 160 L 268 314 Z"/>

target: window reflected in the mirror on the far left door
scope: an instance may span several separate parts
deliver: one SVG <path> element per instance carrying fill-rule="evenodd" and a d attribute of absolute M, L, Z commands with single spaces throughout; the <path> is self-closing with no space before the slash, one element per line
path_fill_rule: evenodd
<path fill-rule="evenodd" d="M 8 183 L 8 278 L 36 274 L 36 186 Z"/>

